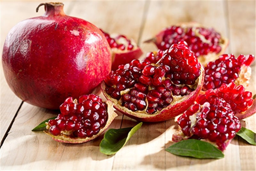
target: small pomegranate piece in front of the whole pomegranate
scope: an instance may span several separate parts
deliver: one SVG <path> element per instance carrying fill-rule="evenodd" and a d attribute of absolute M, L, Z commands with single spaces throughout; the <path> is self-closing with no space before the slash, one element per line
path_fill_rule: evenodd
<path fill-rule="evenodd" d="M 60 105 L 60 114 L 46 123 L 45 133 L 64 143 L 84 143 L 95 139 L 116 117 L 108 102 L 95 94 L 68 97 Z M 113 109 L 112 109 L 113 110 Z"/>

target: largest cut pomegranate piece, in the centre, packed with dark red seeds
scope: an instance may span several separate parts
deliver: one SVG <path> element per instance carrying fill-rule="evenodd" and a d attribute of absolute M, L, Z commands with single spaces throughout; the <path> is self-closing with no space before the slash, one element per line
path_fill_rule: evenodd
<path fill-rule="evenodd" d="M 186 42 L 173 44 L 162 55 L 156 64 L 133 60 L 110 72 L 101 89 L 117 110 L 157 122 L 181 114 L 196 100 L 204 69 Z"/>

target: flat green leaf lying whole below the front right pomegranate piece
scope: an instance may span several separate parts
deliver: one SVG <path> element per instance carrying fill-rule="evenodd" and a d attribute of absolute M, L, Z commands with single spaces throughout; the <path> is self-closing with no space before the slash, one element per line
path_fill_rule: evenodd
<path fill-rule="evenodd" d="M 224 154 L 214 145 L 197 139 L 180 141 L 165 150 L 179 156 L 188 156 L 198 159 L 220 159 L 224 157 Z"/>

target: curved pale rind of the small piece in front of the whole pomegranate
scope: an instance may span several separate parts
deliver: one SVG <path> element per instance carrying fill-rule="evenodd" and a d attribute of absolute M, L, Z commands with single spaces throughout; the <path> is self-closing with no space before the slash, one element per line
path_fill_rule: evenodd
<path fill-rule="evenodd" d="M 49 128 L 50 128 L 48 123 L 45 123 L 47 130 L 44 131 L 44 133 L 46 133 L 47 135 L 50 135 L 53 140 L 58 141 L 58 142 L 62 142 L 62 143 L 81 144 L 81 143 L 91 141 L 91 140 L 99 137 L 109 127 L 109 125 L 114 121 L 114 119 L 117 116 L 117 114 L 116 114 L 116 112 L 114 111 L 114 108 L 113 108 L 113 103 L 111 101 L 107 100 L 106 104 L 107 104 L 107 112 L 108 112 L 108 121 L 107 121 L 106 125 L 103 128 L 100 129 L 100 132 L 96 135 L 93 135 L 92 137 L 70 138 L 68 135 L 65 135 L 63 133 L 61 135 L 54 136 L 48 131 Z"/>

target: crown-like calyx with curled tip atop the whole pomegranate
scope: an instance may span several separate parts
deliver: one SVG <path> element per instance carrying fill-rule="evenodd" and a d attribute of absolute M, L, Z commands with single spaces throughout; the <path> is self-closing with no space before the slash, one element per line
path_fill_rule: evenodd
<path fill-rule="evenodd" d="M 36 7 L 36 12 L 39 11 L 39 7 L 44 5 L 44 16 L 55 16 L 55 15 L 65 15 L 63 11 L 64 4 L 61 2 L 49 2 L 49 3 L 41 3 Z"/>

